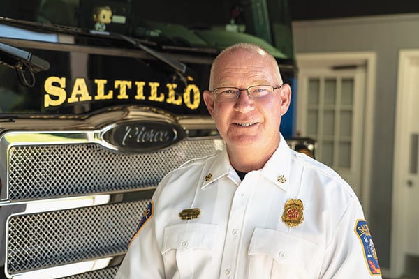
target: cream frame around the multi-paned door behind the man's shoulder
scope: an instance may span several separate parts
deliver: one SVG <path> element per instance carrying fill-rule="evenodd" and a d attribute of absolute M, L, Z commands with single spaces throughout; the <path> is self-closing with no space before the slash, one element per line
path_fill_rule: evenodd
<path fill-rule="evenodd" d="M 307 68 L 330 68 L 332 66 L 365 66 L 365 104 L 364 104 L 364 128 L 362 135 L 362 174 L 360 202 L 364 209 L 365 218 L 369 219 L 369 197 L 372 170 L 372 146 L 374 132 L 374 100 L 376 87 L 376 53 L 375 52 L 316 52 L 297 54 L 297 66 L 299 69 Z M 297 97 L 297 107 L 300 107 Z M 297 110 L 297 128 L 298 122 Z"/>

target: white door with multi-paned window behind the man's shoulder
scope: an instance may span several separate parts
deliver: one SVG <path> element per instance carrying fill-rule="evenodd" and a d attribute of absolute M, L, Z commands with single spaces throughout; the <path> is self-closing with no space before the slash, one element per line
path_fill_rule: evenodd
<path fill-rule="evenodd" d="M 314 57 L 297 56 L 297 133 L 317 141 L 316 158 L 335 169 L 367 208 L 369 192 L 362 184 L 369 182 L 366 158 L 372 150 L 366 140 L 372 137 L 366 135 L 372 130 L 372 109 L 366 110 L 367 103 L 372 103 L 367 93 L 371 61 L 365 55 L 358 59 L 345 54 Z"/>

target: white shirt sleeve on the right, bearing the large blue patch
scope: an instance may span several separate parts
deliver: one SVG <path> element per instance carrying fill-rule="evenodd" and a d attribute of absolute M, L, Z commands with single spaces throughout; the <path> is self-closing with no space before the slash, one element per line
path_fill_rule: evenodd
<path fill-rule="evenodd" d="M 381 278 L 374 243 L 355 197 L 326 247 L 320 278 Z"/>

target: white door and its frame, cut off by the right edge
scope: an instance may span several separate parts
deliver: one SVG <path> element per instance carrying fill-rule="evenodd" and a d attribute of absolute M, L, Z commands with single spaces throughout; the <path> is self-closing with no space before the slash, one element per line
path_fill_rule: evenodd
<path fill-rule="evenodd" d="M 393 276 L 406 257 L 419 258 L 419 50 L 399 52 L 393 173 Z M 409 266 L 407 266 L 409 268 Z"/>

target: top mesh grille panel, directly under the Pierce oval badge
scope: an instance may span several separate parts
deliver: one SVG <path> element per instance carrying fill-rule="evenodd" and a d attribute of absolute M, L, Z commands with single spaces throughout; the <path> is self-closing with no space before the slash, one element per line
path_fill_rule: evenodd
<path fill-rule="evenodd" d="M 154 153 L 126 154 L 99 144 L 12 146 L 9 199 L 41 199 L 156 186 L 186 160 L 216 150 L 214 140 L 184 140 Z"/>

